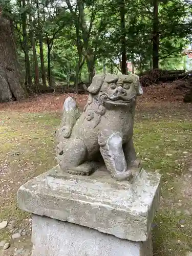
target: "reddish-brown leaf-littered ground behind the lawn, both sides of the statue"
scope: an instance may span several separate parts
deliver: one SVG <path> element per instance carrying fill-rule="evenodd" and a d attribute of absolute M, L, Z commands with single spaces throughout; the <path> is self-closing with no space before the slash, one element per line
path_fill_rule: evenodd
<path fill-rule="evenodd" d="M 183 97 L 187 90 L 184 88 L 184 82 L 178 80 L 173 83 L 164 83 L 155 87 L 143 88 L 144 94 L 139 97 L 138 109 L 154 110 L 165 109 L 191 109 L 191 104 L 183 104 Z M 83 108 L 87 101 L 87 95 L 84 94 L 42 94 L 30 97 L 20 102 L 1 103 L 0 111 L 37 113 L 37 112 L 60 112 L 67 96 L 72 96 Z"/>

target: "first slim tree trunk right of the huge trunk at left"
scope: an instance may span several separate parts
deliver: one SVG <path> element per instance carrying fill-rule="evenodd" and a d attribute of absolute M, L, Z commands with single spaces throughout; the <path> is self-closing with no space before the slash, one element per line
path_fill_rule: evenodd
<path fill-rule="evenodd" d="M 25 0 L 22 0 L 22 8 L 26 8 Z M 29 49 L 28 49 L 28 37 L 27 37 L 27 11 L 23 11 L 22 13 L 22 28 L 23 28 L 23 37 L 24 37 L 24 54 L 25 54 L 25 66 L 26 66 L 26 74 L 28 86 L 32 85 L 32 77 L 31 77 L 31 67 L 29 61 Z"/>

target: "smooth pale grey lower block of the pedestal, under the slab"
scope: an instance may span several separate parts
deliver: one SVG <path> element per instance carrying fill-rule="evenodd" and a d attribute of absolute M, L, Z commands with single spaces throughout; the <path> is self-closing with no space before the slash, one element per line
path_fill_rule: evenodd
<path fill-rule="evenodd" d="M 145 242 L 119 239 L 97 230 L 33 215 L 32 256 L 152 256 Z"/>

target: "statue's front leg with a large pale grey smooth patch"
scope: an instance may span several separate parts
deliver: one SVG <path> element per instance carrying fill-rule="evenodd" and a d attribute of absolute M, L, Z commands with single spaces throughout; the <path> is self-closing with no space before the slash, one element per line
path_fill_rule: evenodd
<path fill-rule="evenodd" d="M 131 172 L 127 170 L 121 134 L 114 133 L 109 137 L 101 134 L 98 138 L 98 143 L 106 168 L 111 173 L 111 176 L 119 181 L 129 179 Z"/>

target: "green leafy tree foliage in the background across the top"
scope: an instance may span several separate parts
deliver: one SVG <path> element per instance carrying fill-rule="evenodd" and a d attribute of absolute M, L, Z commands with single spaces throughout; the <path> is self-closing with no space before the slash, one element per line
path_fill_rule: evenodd
<path fill-rule="evenodd" d="M 22 13 L 27 12 L 27 36 L 30 38 L 30 14 L 34 26 L 39 71 L 41 35 L 45 67 L 48 68 L 49 50 L 51 75 L 54 80 L 70 83 L 71 79 L 74 80 L 75 74 L 78 79 L 88 80 L 89 65 L 92 65 L 97 73 L 103 72 L 103 67 L 106 72 L 119 72 L 121 32 L 126 35 L 127 61 L 134 61 L 138 71 L 152 68 L 152 1 L 125 1 L 125 31 L 121 31 L 121 3 L 122 0 L 1 0 L 0 6 L 3 8 L 3 14 L 12 20 L 22 69 L 25 70 Z M 187 0 L 159 1 L 161 68 L 183 67 L 182 51 L 191 40 L 191 13 L 192 7 Z M 28 49 L 30 62 L 33 63 L 30 40 Z M 34 70 L 32 74 L 34 75 Z"/>

